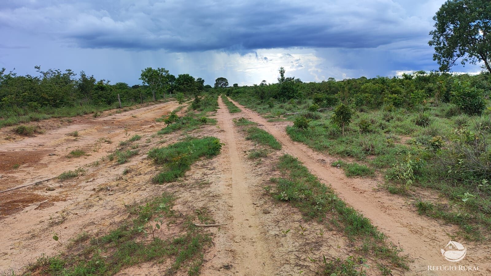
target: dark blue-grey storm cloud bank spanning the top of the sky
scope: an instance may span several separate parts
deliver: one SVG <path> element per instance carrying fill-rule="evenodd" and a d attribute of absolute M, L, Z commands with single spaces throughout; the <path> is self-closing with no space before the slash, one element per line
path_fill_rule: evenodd
<path fill-rule="evenodd" d="M 424 4 L 425 0 L 414 1 Z M 0 25 L 89 49 L 250 52 L 377 48 L 427 40 L 431 25 L 391 0 L 7 1 Z"/>

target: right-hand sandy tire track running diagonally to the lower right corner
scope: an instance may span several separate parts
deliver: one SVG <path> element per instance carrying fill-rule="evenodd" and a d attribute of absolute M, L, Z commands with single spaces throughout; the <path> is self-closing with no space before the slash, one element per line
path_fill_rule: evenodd
<path fill-rule="evenodd" d="M 472 275 L 491 274 L 489 245 L 460 241 L 467 247 L 464 260 L 458 263 L 445 261 L 440 249 L 451 240 L 449 235 L 455 235 L 458 231 L 457 226 L 442 225 L 436 220 L 418 215 L 414 210 L 410 210 L 402 197 L 376 191 L 378 183 L 373 179 L 347 178 L 341 169 L 330 166 L 330 162 L 322 162 L 326 165 L 321 164 L 319 160 L 334 161 L 334 159 L 315 152 L 304 144 L 292 141 L 284 127 L 279 129 L 257 112 L 246 109 L 231 99 L 230 101 L 243 110 L 248 119 L 271 133 L 283 145 L 286 153 L 297 157 L 321 181 L 330 184 L 346 203 L 379 227 L 395 245 L 401 246 L 405 250 L 403 253 L 409 253 L 414 262 L 409 264 L 410 271 L 407 275 L 460 274 L 459 271 L 428 270 L 428 266 L 453 265 L 479 266 L 479 272 L 471 272 Z"/>

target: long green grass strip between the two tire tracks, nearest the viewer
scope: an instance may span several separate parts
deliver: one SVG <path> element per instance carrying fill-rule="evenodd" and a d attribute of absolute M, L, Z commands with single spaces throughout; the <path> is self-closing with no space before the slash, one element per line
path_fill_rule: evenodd
<path fill-rule="evenodd" d="M 273 196 L 277 200 L 292 203 L 309 219 L 324 221 L 330 227 L 342 230 L 357 244 L 356 252 L 363 256 L 376 256 L 379 265 L 391 263 L 407 269 L 406 258 L 399 255 L 402 250 L 389 243 L 367 218 L 346 205 L 332 189 L 322 184 L 296 158 L 283 155 L 280 157 L 278 169 L 281 177 L 272 179 L 276 183 Z M 334 263 L 325 265 L 327 270 L 332 270 L 333 266 L 337 267 Z"/>

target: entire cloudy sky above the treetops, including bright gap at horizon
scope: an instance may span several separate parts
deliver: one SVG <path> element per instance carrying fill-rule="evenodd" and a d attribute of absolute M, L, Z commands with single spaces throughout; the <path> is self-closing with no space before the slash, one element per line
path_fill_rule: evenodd
<path fill-rule="evenodd" d="M 3 0 L 0 67 L 84 70 L 130 85 L 145 67 L 211 85 L 273 83 L 281 66 L 305 82 L 430 71 L 428 33 L 443 2 Z"/>

